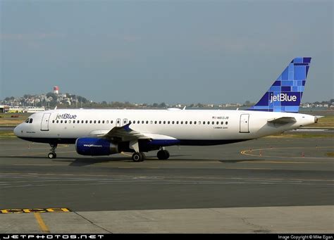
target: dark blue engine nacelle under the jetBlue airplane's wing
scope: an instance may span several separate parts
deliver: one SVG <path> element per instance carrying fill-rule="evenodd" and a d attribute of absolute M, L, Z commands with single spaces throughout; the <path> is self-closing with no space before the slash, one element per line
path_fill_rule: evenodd
<path fill-rule="evenodd" d="M 119 153 L 118 146 L 108 139 L 81 137 L 75 141 L 77 153 L 86 156 L 106 156 Z"/>

